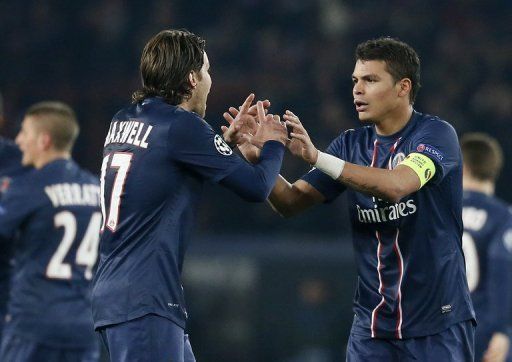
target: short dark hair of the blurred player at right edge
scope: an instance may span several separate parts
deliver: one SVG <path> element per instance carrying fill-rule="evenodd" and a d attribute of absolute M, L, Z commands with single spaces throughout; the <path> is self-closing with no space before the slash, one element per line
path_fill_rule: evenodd
<path fill-rule="evenodd" d="M 503 167 L 498 141 L 485 133 L 466 133 L 460 140 L 462 159 L 471 175 L 481 181 L 496 181 Z"/>

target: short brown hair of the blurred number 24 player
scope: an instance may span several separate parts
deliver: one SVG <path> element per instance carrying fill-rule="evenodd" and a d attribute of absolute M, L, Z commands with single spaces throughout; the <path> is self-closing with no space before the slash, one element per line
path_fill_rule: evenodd
<path fill-rule="evenodd" d="M 36 118 L 36 127 L 50 134 L 53 147 L 71 151 L 80 133 L 75 111 L 64 102 L 44 101 L 32 105 L 25 117 Z"/>

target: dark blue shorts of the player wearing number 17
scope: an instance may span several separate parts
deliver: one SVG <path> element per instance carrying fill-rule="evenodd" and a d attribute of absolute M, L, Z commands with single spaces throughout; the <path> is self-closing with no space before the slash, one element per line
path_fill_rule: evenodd
<path fill-rule="evenodd" d="M 148 314 L 99 330 L 111 362 L 195 362 L 188 335 L 169 319 Z"/>

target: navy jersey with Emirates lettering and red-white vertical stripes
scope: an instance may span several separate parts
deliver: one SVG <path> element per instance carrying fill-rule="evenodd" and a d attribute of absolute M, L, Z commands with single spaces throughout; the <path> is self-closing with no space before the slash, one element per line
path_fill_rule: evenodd
<path fill-rule="evenodd" d="M 379 136 L 374 126 L 349 130 L 326 152 L 386 169 L 410 153 L 421 153 L 436 165 L 433 179 L 397 203 L 348 190 L 359 333 L 420 337 L 474 318 L 461 245 L 462 162 L 454 129 L 437 117 L 414 112 L 395 135 Z M 303 179 L 327 200 L 345 190 L 316 169 Z"/>

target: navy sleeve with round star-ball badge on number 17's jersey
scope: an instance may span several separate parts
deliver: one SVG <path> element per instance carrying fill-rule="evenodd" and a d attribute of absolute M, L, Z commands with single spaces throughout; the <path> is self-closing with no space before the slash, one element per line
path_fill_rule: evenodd
<path fill-rule="evenodd" d="M 202 118 L 191 113 L 172 121 L 169 156 L 203 178 L 219 182 L 244 161 Z"/>

